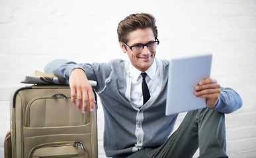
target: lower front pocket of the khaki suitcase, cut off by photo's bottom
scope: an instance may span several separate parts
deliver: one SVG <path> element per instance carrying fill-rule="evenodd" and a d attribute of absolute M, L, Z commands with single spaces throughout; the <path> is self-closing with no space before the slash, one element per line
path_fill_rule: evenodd
<path fill-rule="evenodd" d="M 39 157 L 86 157 L 88 151 L 85 146 L 79 142 L 53 142 L 36 145 L 29 153 L 28 158 Z"/>

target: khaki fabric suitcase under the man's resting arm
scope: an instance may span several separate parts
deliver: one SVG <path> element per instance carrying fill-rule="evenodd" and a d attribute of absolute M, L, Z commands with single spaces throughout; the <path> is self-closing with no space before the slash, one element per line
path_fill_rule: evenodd
<path fill-rule="evenodd" d="M 69 86 L 26 86 L 10 102 L 13 158 L 98 157 L 97 103 L 83 115 Z"/>

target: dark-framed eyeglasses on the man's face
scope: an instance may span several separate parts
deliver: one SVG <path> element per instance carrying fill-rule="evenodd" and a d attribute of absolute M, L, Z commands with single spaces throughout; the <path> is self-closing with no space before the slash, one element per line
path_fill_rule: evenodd
<path fill-rule="evenodd" d="M 155 41 L 150 41 L 149 43 L 146 43 L 146 44 L 133 45 L 133 46 L 129 46 L 124 42 L 122 42 L 122 43 L 124 45 L 126 45 L 126 47 L 130 48 L 134 53 L 140 53 L 140 52 L 142 52 L 142 50 L 144 49 L 145 46 L 148 48 L 148 50 L 155 49 L 157 47 L 157 45 L 159 45 L 159 40 L 157 38 L 155 38 Z"/>

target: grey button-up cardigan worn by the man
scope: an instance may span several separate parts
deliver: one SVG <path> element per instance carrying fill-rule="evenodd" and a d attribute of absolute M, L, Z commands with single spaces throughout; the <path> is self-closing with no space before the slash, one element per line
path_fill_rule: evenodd
<path fill-rule="evenodd" d="M 115 59 L 110 63 L 77 64 L 59 59 L 46 65 L 44 70 L 68 79 L 71 70 L 82 68 L 89 80 L 97 81 L 95 91 L 105 114 L 105 153 L 107 157 L 118 157 L 144 147 L 158 147 L 173 131 L 177 115 L 165 115 L 169 61 L 155 61 L 159 66 L 161 89 L 140 109 L 126 95 L 129 88 L 126 61 Z M 239 107 L 239 95 L 230 88 L 222 88 L 214 110 L 232 113 Z"/>

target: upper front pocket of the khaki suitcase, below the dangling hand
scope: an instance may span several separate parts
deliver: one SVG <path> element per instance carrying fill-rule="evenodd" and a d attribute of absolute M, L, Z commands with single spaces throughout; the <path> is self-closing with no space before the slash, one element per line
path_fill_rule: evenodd
<path fill-rule="evenodd" d="M 88 123 L 89 113 L 83 115 L 71 104 L 70 97 L 56 97 L 58 95 L 30 101 L 26 106 L 24 126 L 79 126 Z"/>

